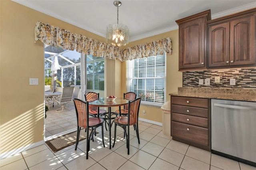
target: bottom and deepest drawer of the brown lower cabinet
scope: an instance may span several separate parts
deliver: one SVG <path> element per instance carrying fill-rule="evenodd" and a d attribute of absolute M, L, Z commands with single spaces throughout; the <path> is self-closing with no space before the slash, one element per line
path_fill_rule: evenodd
<path fill-rule="evenodd" d="M 208 128 L 197 127 L 172 121 L 171 135 L 196 143 L 208 145 Z"/>

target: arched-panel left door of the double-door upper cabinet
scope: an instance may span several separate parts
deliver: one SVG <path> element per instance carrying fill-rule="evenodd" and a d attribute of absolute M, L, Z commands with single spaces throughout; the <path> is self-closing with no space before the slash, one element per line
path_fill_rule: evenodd
<path fill-rule="evenodd" d="M 208 67 L 229 66 L 229 22 L 208 27 Z"/>

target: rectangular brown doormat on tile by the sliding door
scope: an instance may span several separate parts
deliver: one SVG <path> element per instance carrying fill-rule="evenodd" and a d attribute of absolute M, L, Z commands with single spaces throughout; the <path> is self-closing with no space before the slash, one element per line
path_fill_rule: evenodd
<path fill-rule="evenodd" d="M 90 134 L 90 131 L 91 130 L 89 130 L 89 134 Z M 96 134 L 97 133 L 98 132 L 96 132 Z M 76 143 L 76 135 L 77 135 L 77 131 L 70 132 L 68 134 L 64 134 L 57 138 L 47 140 L 45 143 L 52 149 L 53 152 L 57 152 L 57 151 L 62 150 L 72 144 L 75 144 Z M 85 132 L 85 129 L 81 129 L 80 136 L 79 136 L 79 142 L 84 139 L 86 139 L 86 132 Z"/>

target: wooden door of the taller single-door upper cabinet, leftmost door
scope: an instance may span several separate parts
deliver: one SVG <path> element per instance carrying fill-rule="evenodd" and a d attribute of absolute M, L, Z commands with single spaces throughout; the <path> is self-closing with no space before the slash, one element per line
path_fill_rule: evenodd
<path fill-rule="evenodd" d="M 179 69 L 206 68 L 206 18 L 185 22 L 179 26 Z"/>

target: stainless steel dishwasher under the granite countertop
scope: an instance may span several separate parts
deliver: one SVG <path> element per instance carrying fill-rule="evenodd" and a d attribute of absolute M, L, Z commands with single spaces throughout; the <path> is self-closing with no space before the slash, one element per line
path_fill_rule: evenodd
<path fill-rule="evenodd" d="M 212 153 L 256 166 L 256 102 L 211 99 Z"/>

